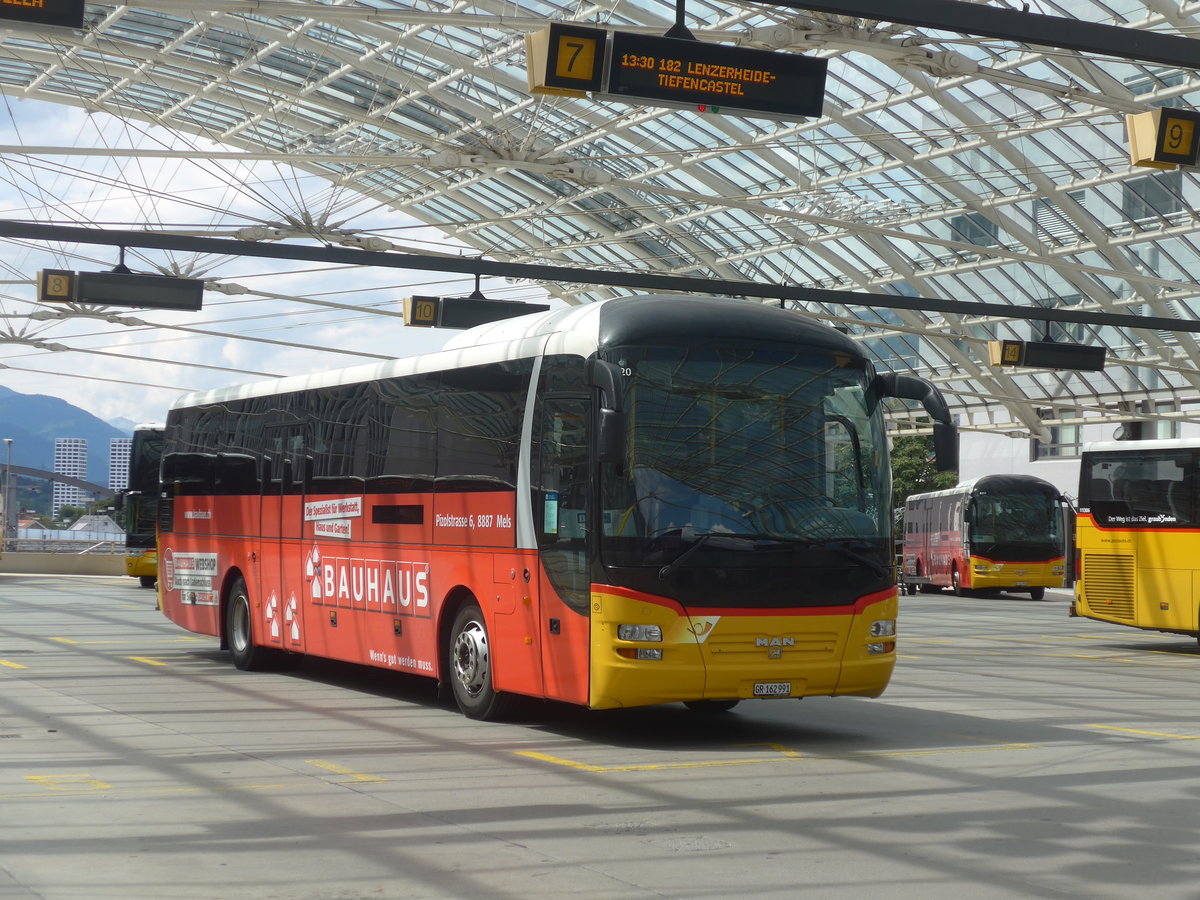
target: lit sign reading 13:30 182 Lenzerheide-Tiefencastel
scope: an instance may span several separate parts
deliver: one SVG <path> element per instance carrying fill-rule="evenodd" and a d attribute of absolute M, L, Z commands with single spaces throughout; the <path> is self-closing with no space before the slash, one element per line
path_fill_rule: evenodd
<path fill-rule="evenodd" d="M 671 107 L 820 116 L 827 60 L 749 47 L 614 31 L 608 94 Z"/>

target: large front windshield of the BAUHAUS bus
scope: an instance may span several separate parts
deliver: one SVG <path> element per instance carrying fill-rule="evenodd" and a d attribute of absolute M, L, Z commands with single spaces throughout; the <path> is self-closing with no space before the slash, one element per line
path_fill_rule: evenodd
<path fill-rule="evenodd" d="M 722 565 L 794 565 L 799 548 L 839 545 L 816 558 L 882 562 L 886 438 L 862 362 L 774 347 L 611 359 L 629 372 L 629 455 L 604 475 L 606 563 L 661 565 L 672 545 L 690 545 L 689 565 L 719 553 Z"/>

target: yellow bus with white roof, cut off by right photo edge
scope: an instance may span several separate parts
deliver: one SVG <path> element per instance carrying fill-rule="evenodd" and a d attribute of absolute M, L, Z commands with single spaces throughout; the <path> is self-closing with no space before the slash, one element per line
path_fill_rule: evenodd
<path fill-rule="evenodd" d="M 1200 637 L 1200 440 L 1084 448 L 1073 616 Z"/>

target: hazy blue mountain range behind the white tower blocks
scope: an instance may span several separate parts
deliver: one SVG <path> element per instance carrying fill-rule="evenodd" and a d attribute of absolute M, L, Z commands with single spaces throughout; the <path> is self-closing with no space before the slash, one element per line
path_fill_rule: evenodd
<path fill-rule="evenodd" d="M 18 394 L 0 385 L 0 440 L 12 438 L 13 466 L 53 470 L 54 440 L 83 438 L 88 442 L 88 480 L 107 485 L 109 440 L 132 434 L 132 426 L 116 427 L 65 400 Z M 6 448 L 0 445 L 0 466 L 6 461 Z"/>

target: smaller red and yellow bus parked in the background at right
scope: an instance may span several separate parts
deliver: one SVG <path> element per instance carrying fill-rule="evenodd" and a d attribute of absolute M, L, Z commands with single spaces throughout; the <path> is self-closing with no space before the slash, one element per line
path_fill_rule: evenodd
<path fill-rule="evenodd" d="M 1034 475 L 983 475 L 904 506 L 904 583 L 977 592 L 1061 588 L 1067 574 L 1068 504 Z"/>

